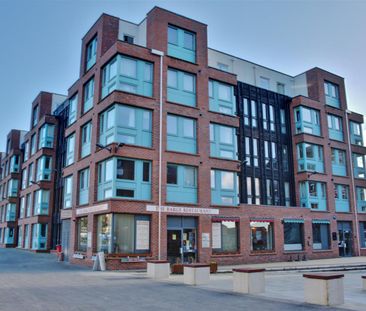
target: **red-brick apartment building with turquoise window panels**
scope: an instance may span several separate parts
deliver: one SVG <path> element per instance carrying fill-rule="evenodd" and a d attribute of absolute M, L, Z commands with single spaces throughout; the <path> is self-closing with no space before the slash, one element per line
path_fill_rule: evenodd
<path fill-rule="evenodd" d="M 102 251 L 108 269 L 366 255 L 363 116 L 343 78 L 210 49 L 207 25 L 154 7 L 95 22 L 63 99 L 32 105 L 25 145 L 45 125 L 54 139 L 22 160 L 18 247 Z"/>

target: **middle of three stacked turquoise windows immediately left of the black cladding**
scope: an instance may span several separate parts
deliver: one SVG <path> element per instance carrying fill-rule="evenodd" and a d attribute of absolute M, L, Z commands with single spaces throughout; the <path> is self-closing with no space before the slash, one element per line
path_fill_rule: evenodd
<path fill-rule="evenodd" d="M 210 156 L 236 160 L 237 137 L 234 127 L 210 124 Z"/>

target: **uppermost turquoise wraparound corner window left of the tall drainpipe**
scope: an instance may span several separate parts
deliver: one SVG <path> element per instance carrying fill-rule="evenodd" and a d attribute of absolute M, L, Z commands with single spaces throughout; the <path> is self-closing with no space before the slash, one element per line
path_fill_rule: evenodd
<path fill-rule="evenodd" d="M 151 97 L 152 82 L 152 63 L 117 55 L 103 68 L 102 98 L 115 90 Z"/>

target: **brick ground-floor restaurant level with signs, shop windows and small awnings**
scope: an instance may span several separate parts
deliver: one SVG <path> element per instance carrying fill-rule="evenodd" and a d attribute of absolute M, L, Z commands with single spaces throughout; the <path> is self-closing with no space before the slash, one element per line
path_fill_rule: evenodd
<path fill-rule="evenodd" d="M 65 259 L 92 265 L 104 252 L 108 269 L 144 268 L 159 257 L 172 264 L 231 265 L 366 255 L 366 215 L 355 221 L 350 213 L 252 205 L 163 206 L 159 213 L 154 205 L 121 203 L 69 215 L 61 229 Z"/>

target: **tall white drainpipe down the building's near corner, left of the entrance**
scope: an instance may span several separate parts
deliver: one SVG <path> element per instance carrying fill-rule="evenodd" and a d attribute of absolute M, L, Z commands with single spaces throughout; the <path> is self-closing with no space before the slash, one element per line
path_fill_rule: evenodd
<path fill-rule="evenodd" d="M 158 259 L 161 260 L 161 162 L 163 154 L 163 57 L 164 52 L 151 49 L 151 54 L 160 56 L 160 81 L 159 81 L 159 194 L 158 194 Z"/>

